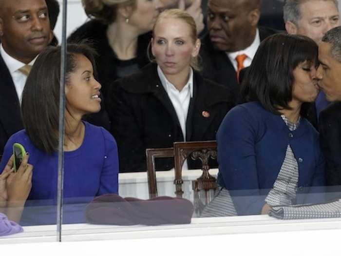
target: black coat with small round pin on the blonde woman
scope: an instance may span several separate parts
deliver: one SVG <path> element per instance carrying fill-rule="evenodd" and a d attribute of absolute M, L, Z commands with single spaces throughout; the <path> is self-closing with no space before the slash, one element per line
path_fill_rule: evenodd
<path fill-rule="evenodd" d="M 145 171 L 147 148 L 172 147 L 174 141 L 184 141 L 156 67 L 152 63 L 132 76 L 117 80 L 110 94 L 113 100 L 107 101 L 121 172 Z M 214 140 L 221 121 L 233 105 L 231 92 L 194 72 L 186 140 Z M 209 117 L 204 117 L 203 111 Z M 173 167 L 170 159 L 161 159 L 155 164 L 157 170 Z"/>

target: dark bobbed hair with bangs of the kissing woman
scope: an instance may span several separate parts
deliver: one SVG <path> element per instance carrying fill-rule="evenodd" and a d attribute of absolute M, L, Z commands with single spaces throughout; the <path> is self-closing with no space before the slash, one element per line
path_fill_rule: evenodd
<path fill-rule="evenodd" d="M 246 101 L 259 101 L 274 114 L 290 109 L 294 83 L 293 70 L 302 62 L 317 66 L 318 45 L 310 38 L 298 35 L 275 34 L 260 44 L 241 84 Z M 302 107 L 304 111 L 305 106 Z M 303 113 L 304 114 L 304 113 Z"/>

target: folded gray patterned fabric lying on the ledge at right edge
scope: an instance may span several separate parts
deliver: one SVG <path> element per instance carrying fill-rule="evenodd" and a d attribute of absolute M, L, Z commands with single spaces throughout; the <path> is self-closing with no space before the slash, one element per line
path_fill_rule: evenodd
<path fill-rule="evenodd" d="M 269 211 L 269 216 L 280 219 L 341 217 L 341 199 L 314 205 L 274 206 Z"/>

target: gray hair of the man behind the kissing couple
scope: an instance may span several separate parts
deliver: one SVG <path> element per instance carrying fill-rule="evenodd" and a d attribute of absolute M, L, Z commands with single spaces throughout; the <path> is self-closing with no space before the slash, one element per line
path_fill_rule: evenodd
<path fill-rule="evenodd" d="M 295 25 L 298 24 L 299 20 L 301 20 L 301 4 L 307 2 L 309 0 L 284 0 L 283 6 L 283 19 L 284 22 L 291 21 Z M 337 9 L 339 9 L 339 1 L 338 0 L 324 0 L 324 1 L 333 1 Z"/>

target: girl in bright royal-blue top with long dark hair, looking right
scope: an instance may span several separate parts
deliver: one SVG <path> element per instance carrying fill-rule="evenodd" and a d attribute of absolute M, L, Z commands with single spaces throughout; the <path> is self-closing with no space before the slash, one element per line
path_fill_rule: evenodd
<path fill-rule="evenodd" d="M 85 114 L 100 110 L 101 85 L 94 77 L 94 52 L 84 44 L 69 44 L 67 51 L 64 209 L 70 202 L 88 203 L 95 196 L 118 192 L 118 156 L 113 136 L 102 127 L 82 121 Z M 60 47 L 52 46 L 39 54 L 22 94 L 25 130 L 9 138 L 0 162 L 3 170 L 15 142 L 30 155 L 34 171 L 21 217 L 23 225 L 56 222 L 60 54 Z M 63 221 L 82 222 L 84 213 L 78 208 L 64 211 Z"/>

